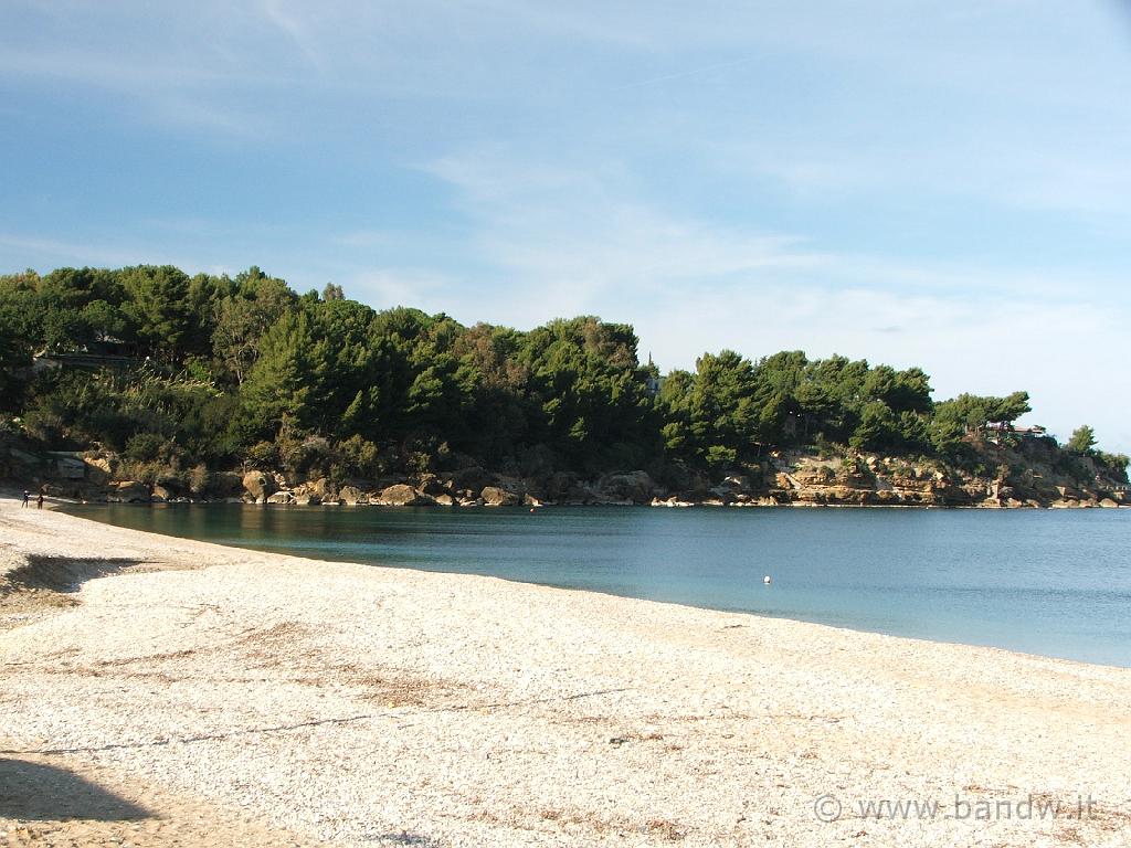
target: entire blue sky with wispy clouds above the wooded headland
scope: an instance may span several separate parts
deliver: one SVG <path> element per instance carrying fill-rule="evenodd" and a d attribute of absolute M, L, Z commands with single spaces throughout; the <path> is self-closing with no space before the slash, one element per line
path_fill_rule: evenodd
<path fill-rule="evenodd" d="M 920 364 L 1128 451 L 1129 83 L 1117 0 L 6 0 L 0 271 Z"/>

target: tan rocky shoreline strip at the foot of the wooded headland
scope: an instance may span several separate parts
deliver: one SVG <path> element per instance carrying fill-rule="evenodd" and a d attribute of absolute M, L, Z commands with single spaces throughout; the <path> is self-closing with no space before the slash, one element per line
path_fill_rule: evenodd
<path fill-rule="evenodd" d="M 10 458 L 9 458 L 10 459 Z M 81 458 L 87 471 L 67 478 L 35 457 L 9 469 L 19 485 L 35 481 L 45 493 L 86 501 L 175 503 L 242 501 L 277 505 L 515 507 L 520 504 L 651 504 L 655 507 L 967 507 L 1114 508 L 1131 505 L 1126 484 L 1105 478 L 1083 460 L 1064 466 L 1063 453 L 1029 448 L 985 448 L 967 466 L 939 460 L 848 453 L 821 457 L 775 452 L 758 466 L 710 479 L 684 473 L 667 485 L 645 470 L 585 479 L 576 473 L 539 476 L 492 473 L 469 466 L 450 473 L 375 481 L 335 482 L 273 470 L 213 473 L 197 490 L 174 482 L 121 479 L 106 452 Z M 75 467 L 84 467 L 74 462 Z M 70 466 L 68 466 L 70 468 Z M 16 471 L 16 473 L 12 473 Z M 35 471 L 38 471 L 36 474 Z M 36 477 L 38 479 L 36 481 Z"/>

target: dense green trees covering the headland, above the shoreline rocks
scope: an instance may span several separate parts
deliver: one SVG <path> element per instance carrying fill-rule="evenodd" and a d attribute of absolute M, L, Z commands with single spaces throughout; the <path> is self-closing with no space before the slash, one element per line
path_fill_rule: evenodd
<path fill-rule="evenodd" d="M 334 285 L 300 295 L 257 267 L 0 277 L 2 426 L 152 474 L 242 465 L 346 479 L 474 461 L 662 479 L 784 448 L 960 464 L 987 422 L 1028 412 L 1025 391 L 935 400 L 921 369 L 797 351 L 705 353 L 693 372 L 662 375 L 629 325 L 465 327 L 375 311 Z M 1125 475 L 1126 457 L 1097 451 L 1089 427 L 1064 455 Z"/>

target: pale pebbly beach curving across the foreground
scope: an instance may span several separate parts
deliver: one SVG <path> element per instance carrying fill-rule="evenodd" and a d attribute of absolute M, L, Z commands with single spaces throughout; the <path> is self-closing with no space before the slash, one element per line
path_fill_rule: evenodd
<path fill-rule="evenodd" d="M 1131 845 L 1131 669 L 7 500 L 0 573 L 0 841 Z"/>

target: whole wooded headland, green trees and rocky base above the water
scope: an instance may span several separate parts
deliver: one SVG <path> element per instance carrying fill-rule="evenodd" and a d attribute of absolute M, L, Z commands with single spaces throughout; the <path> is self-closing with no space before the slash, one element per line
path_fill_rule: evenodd
<path fill-rule="evenodd" d="M 1015 429 L 1024 391 L 935 401 L 921 369 L 802 352 L 662 375 L 628 325 L 464 327 L 254 267 L 0 277 L 0 471 L 120 500 L 1018 505 L 1126 483 L 1088 427 Z"/>

